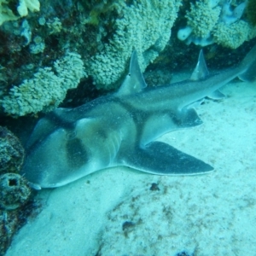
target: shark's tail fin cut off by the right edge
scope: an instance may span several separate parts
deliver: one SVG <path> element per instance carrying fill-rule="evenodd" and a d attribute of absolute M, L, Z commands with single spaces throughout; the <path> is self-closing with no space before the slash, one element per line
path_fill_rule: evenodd
<path fill-rule="evenodd" d="M 241 73 L 238 78 L 245 82 L 256 80 L 256 45 L 253 46 L 240 64 Z"/>

